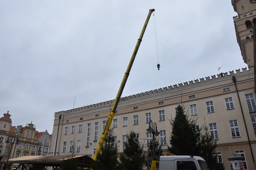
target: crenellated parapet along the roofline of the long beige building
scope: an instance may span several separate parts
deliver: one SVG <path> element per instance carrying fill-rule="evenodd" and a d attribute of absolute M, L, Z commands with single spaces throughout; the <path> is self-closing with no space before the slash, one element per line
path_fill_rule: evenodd
<path fill-rule="evenodd" d="M 146 92 L 142 92 L 139 94 L 133 94 L 130 96 L 126 96 L 126 97 L 122 97 L 120 98 L 120 103 L 122 102 L 126 102 L 126 101 L 131 101 L 131 100 L 135 100 L 135 99 L 140 99 L 140 98 L 144 98 L 144 97 L 149 97 L 149 96 L 153 96 L 153 95 L 158 95 L 161 93 L 168 93 L 168 92 L 172 92 L 172 91 L 177 91 L 177 90 L 183 90 L 184 88 L 192 88 L 194 86 L 198 86 L 198 85 L 203 85 L 206 83 L 211 83 L 211 82 L 215 82 L 215 81 L 220 81 L 220 80 L 224 80 L 224 79 L 232 79 L 232 76 L 240 76 L 246 73 L 253 73 L 254 68 L 250 67 L 249 70 L 247 70 L 246 68 L 242 68 L 242 71 L 236 70 L 236 73 L 234 73 L 234 71 L 229 71 L 229 73 L 220 73 L 218 75 L 213 75 L 213 76 L 208 76 L 208 77 L 204 77 L 204 78 L 200 78 L 200 79 L 196 79 L 196 80 L 192 80 L 192 81 L 188 81 L 188 82 L 184 82 L 184 83 L 179 83 L 178 85 L 170 85 L 168 87 L 164 87 L 164 88 L 159 88 L 159 89 L 155 89 L 155 90 L 151 90 L 151 91 L 146 91 Z M 87 105 L 84 107 L 80 107 L 80 108 L 74 108 L 74 109 L 70 109 L 67 111 L 59 111 L 59 112 L 55 112 L 56 117 L 59 114 L 73 114 L 76 112 L 81 112 L 84 110 L 91 110 L 94 108 L 102 108 L 102 107 L 106 107 L 109 106 L 111 108 L 112 103 L 114 102 L 114 100 L 109 100 L 106 102 L 100 102 L 97 104 L 93 104 L 93 105 Z"/>

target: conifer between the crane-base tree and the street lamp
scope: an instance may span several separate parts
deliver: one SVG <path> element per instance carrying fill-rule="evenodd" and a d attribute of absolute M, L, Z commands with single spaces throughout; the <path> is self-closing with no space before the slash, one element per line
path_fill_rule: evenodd
<path fill-rule="evenodd" d="M 123 153 L 120 154 L 120 161 L 123 169 L 126 170 L 140 170 L 145 166 L 145 154 L 143 147 L 139 146 L 139 134 L 133 130 L 127 134 L 127 141 Z M 134 141 L 136 140 L 137 143 Z"/>

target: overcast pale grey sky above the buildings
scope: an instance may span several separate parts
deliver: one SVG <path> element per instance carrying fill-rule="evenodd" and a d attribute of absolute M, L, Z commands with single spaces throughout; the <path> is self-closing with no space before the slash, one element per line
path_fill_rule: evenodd
<path fill-rule="evenodd" d="M 247 66 L 230 0 L 0 0 L 0 117 L 51 134 L 74 99 L 114 99 L 152 8 L 161 68 L 151 16 L 122 97 Z"/>

